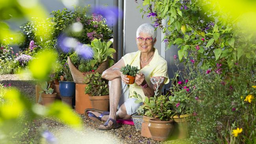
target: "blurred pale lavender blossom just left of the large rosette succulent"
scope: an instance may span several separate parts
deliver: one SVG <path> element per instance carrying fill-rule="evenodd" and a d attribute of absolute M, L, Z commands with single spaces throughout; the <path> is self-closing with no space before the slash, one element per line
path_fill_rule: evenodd
<path fill-rule="evenodd" d="M 75 48 L 78 55 L 81 55 L 84 59 L 92 59 L 93 50 L 86 44 L 78 44 Z"/>

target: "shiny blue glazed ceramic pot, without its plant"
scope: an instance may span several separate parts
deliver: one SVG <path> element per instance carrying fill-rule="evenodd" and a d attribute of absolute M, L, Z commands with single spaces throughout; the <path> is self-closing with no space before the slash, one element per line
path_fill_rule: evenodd
<path fill-rule="evenodd" d="M 71 81 L 59 81 L 59 92 L 61 96 L 73 97 L 76 92 L 76 83 Z"/>

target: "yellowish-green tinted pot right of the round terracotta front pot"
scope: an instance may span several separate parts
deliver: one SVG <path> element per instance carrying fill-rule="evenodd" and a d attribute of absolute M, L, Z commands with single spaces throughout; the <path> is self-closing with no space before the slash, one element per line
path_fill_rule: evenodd
<path fill-rule="evenodd" d="M 183 114 L 173 116 L 174 131 L 171 139 L 182 139 L 189 137 L 189 124 L 191 120 L 191 114 Z"/>

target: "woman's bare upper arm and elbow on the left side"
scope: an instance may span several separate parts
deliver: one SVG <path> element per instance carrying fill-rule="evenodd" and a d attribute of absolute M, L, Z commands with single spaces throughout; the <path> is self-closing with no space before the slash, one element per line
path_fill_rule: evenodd
<path fill-rule="evenodd" d="M 102 73 L 102 78 L 107 79 L 109 81 L 118 78 L 121 76 L 120 69 L 122 66 L 125 66 L 124 60 L 120 59 L 115 65 L 111 66 L 110 68 L 106 69 Z"/>

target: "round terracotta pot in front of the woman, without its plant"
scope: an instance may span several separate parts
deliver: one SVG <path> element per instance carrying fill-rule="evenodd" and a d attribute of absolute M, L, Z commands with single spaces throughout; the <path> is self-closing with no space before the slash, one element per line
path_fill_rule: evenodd
<path fill-rule="evenodd" d="M 174 120 L 161 121 L 157 118 L 150 119 L 148 128 L 153 140 L 167 140 L 173 132 L 173 122 Z"/>

